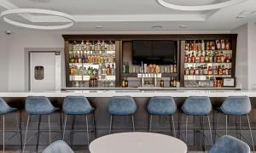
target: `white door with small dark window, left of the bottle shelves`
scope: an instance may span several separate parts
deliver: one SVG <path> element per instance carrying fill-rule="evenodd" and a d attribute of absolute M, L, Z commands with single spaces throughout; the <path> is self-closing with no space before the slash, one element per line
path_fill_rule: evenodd
<path fill-rule="evenodd" d="M 55 52 L 30 53 L 30 89 L 55 90 Z"/>

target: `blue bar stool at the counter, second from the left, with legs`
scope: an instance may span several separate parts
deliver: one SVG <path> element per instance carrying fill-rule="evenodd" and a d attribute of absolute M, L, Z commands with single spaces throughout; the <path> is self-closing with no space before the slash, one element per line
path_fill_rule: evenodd
<path fill-rule="evenodd" d="M 50 144 L 51 143 L 51 139 L 50 139 L 50 114 L 53 114 L 56 111 L 59 111 L 59 109 L 55 108 L 50 103 L 49 99 L 44 97 L 44 96 L 27 96 L 27 98 L 26 98 L 26 108 L 25 109 L 26 109 L 26 113 L 28 114 L 28 116 L 27 116 L 27 120 L 26 120 L 26 133 L 25 133 L 25 139 L 24 139 L 22 152 L 25 151 L 27 128 L 29 126 L 31 116 L 39 116 L 39 121 L 38 121 L 38 143 L 39 143 L 41 116 L 42 115 L 48 115 L 49 144 Z M 31 139 L 29 139 L 29 140 L 31 140 Z M 38 151 L 38 143 L 37 143 L 37 151 Z"/>

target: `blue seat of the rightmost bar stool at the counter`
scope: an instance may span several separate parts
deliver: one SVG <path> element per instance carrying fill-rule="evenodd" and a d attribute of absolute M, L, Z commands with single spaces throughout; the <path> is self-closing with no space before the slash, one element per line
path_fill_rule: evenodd
<path fill-rule="evenodd" d="M 243 116 L 252 110 L 251 101 L 247 96 L 230 96 L 224 100 L 219 111 L 227 115 Z"/>

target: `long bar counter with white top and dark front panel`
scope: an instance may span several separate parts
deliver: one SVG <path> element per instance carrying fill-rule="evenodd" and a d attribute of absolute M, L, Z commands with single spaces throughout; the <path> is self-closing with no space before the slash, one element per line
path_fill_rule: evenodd
<path fill-rule="evenodd" d="M 25 111 L 25 103 L 26 103 L 26 97 L 33 95 L 33 96 L 46 96 L 49 97 L 49 100 L 53 105 L 56 107 L 61 108 L 63 104 L 63 99 L 67 95 L 83 95 L 85 96 L 89 101 L 90 104 L 93 105 L 96 108 L 95 116 L 96 116 L 96 133 L 97 137 L 101 137 L 103 135 L 108 134 L 109 130 L 109 120 L 110 116 L 108 113 L 108 101 L 109 98 L 112 96 L 123 96 L 123 95 L 130 95 L 134 98 L 134 100 L 137 103 L 137 111 L 134 116 L 135 120 L 135 127 L 136 131 L 138 132 L 146 132 L 148 131 L 148 111 L 147 111 L 147 104 L 150 97 L 153 96 L 172 96 L 174 97 L 177 108 L 181 108 L 181 105 L 183 105 L 183 102 L 185 99 L 189 96 L 209 96 L 212 102 L 212 113 L 210 115 L 211 122 L 212 122 L 212 129 L 214 129 L 214 122 L 215 122 L 215 116 L 216 113 L 213 111 L 213 108 L 218 108 L 224 101 L 224 99 L 228 96 L 238 96 L 238 95 L 247 95 L 251 99 L 253 110 L 249 114 L 249 117 L 251 119 L 251 125 L 253 128 L 253 136 L 256 134 L 256 91 L 253 90 L 181 90 L 181 89 L 172 89 L 172 90 L 160 90 L 160 89 L 154 89 L 149 90 L 145 88 L 94 88 L 90 90 L 71 90 L 71 88 L 68 88 L 67 91 L 49 91 L 49 92 L 26 92 L 26 91 L 9 91 L 9 92 L 0 92 L 0 97 L 3 97 L 9 105 L 13 107 L 17 107 L 20 110 L 20 118 L 21 118 L 21 129 L 22 133 L 25 132 L 26 128 L 26 111 Z M 177 111 L 174 115 L 174 122 L 175 127 L 177 129 L 177 135 L 180 139 L 184 139 L 184 129 L 185 129 L 185 116 L 182 115 L 180 111 Z M 15 118 L 15 114 L 11 114 L 6 117 L 6 124 L 7 129 L 15 129 L 15 121 L 13 120 Z M 225 129 L 225 123 L 224 123 L 224 116 L 220 116 L 218 121 L 218 129 L 220 135 L 224 134 Z M 234 116 L 229 117 L 229 133 L 232 135 L 236 132 L 236 123 L 234 122 Z M 63 119 L 63 118 L 62 118 Z M 69 137 L 69 133 L 71 133 L 71 125 L 73 124 L 73 117 L 69 116 L 67 119 L 67 138 Z M 28 136 L 32 136 L 34 133 L 37 132 L 37 120 L 38 116 L 33 116 L 31 121 L 31 126 L 29 127 Z M 47 116 L 43 116 L 42 118 L 42 129 L 48 130 L 48 122 L 47 122 Z M 63 120 L 62 120 L 63 122 Z M 75 129 L 79 129 L 79 132 L 74 133 L 74 139 L 73 139 L 73 148 L 74 149 L 84 149 L 84 144 L 86 144 L 85 137 L 86 134 L 84 133 L 84 116 L 76 116 L 75 117 Z M 91 124 L 91 121 L 89 123 Z M 170 134 L 170 125 L 169 121 L 166 116 L 154 116 L 154 122 L 152 123 L 152 130 L 153 132 L 157 133 L 166 133 Z M 233 127 L 231 127 L 233 126 Z M 53 139 L 61 139 L 61 128 L 60 128 L 60 119 L 59 119 L 59 113 L 56 113 L 51 116 L 51 127 L 52 130 L 56 133 L 52 133 Z M 246 120 L 242 120 L 241 127 L 244 130 L 244 133 L 246 133 L 246 138 L 249 139 L 248 131 L 247 131 L 247 122 Z M 90 126 L 90 129 L 92 127 Z M 132 130 L 131 128 L 131 117 L 129 116 L 117 116 L 114 119 L 113 123 L 113 133 L 119 133 L 119 132 L 130 132 Z M 200 137 L 198 135 L 198 132 L 201 130 L 201 120 L 200 117 L 193 117 L 189 116 L 189 127 L 188 127 L 189 133 L 189 150 L 201 150 L 201 148 L 194 148 L 195 146 L 200 146 L 201 141 Z M 208 135 L 209 133 L 206 134 Z M 1 137 L 1 133 L 0 133 Z M 93 134 L 90 134 L 90 139 L 93 139 Z M 67 139 L 68 142 L 68 139 Z M 195 143 L 195 144 L 194 144 Z M 205 142 L 208 147 L 211 147 L 211 144 L 209 144 L 207 141 Z M 44 148 L 46 145 L 48 145 L 48 134 L 40 136 L 40 144 L 39 148 Z M 86 145 L 85 145 L 86 146 Z M 15 140 L 9 141 L 9 144 L 6 145 L 6 148 L 12 148 L 19 149 L 19 144 L 16 143 Z M 28 142 L 27 149 L 28 150 L 34 150 L 36 147 L 36 144 L 34 141 Z"/>

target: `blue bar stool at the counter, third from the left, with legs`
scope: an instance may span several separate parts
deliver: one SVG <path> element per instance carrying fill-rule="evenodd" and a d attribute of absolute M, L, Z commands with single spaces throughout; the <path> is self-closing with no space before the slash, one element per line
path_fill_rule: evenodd
<path fill-rule="evenodd" d="M 96 138 L 96 126 L 95 126 L 95 116 L 94 116 L 94 110 L 95 109 L 90 105 L 88 99 L 86 99 L 84 96 L 67 96 L 64 99 L 62 110 L 66 114 L 65 115 L 65 121 L 64 121 L 64 129 L 63 129 L 62 140 L 64 140 L 64 137 L 65 137 L 67 116 L 83 115 L 83 116 L 85 116 L 87 143 L 88 143 L 88 146 L 89 146 L 89 143 L 90 143 L 90 141 L 89 141 L 89 127 L 88 127 L 88 115 L 89 114 L 91 114 L 93 116 L 92 122 L 93 122 L 93 131 L 95 133 L 95 138 Z M 73 124 L 74 124 L 74 120 L 73 120 Z M 72 125 L 72 132 L 73 132 L 73 125 Z M 72 138 L 73 138 L 73 135 L 72 135 Z M 71 145 L 72 144 L 73 143 L 71 142 Z"/>

